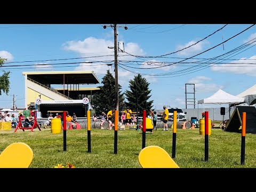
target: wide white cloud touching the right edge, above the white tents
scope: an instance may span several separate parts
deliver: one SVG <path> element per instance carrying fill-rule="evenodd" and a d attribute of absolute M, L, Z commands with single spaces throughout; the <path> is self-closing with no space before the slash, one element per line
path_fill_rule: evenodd
<path fill-rule="evenodd" d="M 250 57 L 249 59 L 241 58 L 230 63 L 214 65 L 211 67 L 211 70 L 220 73 L 234 73 L 244 74 L 248 76 L 256 76 L 256 55 Z"/>

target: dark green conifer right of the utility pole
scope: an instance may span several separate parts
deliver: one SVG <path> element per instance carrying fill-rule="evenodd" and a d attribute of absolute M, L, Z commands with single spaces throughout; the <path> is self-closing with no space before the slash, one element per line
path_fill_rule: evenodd
<path fill-rule="evenodd" d="M 134 79 L 129 81 L 129 88 L 131 91 L 126 90 L 124 92 L 128 102 L 125 102 L 126 107 L 130 107 L 132 111 L 137 111 L 137 98 L 138 98 L 138 113 L 142 115 L 142 111 L 147 112 L 153 107 L 154 100 L 148 101 L 151 97 L 149 90 L 149 83 L 146 78 L 143 78 L 140 74 L 134 76 Z"/>

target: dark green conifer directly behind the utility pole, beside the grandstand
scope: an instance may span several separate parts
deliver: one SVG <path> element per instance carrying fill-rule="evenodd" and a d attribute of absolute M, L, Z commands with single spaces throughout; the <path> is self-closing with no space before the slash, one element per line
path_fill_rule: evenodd
<path fill-rule="evenodd" d="M 112 108 L 116 108 L 116 88 L 115 78 L 107 70 L 107 74 L 102 78 L 102 86 L 98 86 L 100 91 L 94 95 L 94 109 L 97 115 L 102 111 L 107 114 Z M 119 111 L 124 108 L 124 93 L 121 94 L 122 86 L 118 84 L 119 91 Z"/>

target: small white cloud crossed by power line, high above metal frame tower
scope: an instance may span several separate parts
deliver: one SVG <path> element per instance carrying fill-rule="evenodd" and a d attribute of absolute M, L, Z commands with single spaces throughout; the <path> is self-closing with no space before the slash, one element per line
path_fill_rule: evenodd
<path fill-rule="evenodd" d="M 195 44 L 197 41 L 193 40 L 193 41 L 190 41 L 188 43 L 186 43 L 185 45 L 177 45 L 175 51 L 179 51 L 179 50 L 182 50 L 184 49 L 185 47 L 188 47 L 190 45 L 193 45 Z M 202 52 L 203 51 L 203 47 L 208 44 L 209 42 L 207 41 L 202 41 L 202 42 L 199 42 L 197 43 L 196 45 L 193 45 L 185 50 L 182 50 L 180 52 L 177 52 L 177 55 L 180 55 L 180 56 L 188 56 L 188 55 L 193 55 L 193 54 L 196 54 L 196 53 L 199 53 L 199 52 Z"/>

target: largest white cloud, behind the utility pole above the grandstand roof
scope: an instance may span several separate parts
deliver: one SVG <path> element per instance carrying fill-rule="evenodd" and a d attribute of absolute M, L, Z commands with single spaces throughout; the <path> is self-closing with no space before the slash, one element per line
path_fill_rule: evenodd
<path fill-rule="evenodd" d="M 74 70 L 92 70 L 94 71 L 95 75 L 98 77 L 103 77 L 106 75 L 107 70 L 110 70 L 110 73 L 114 73 L 114 49 L 108 49 L 108 46 L 113 46 L 113 41 L 108 41 L 105 39 L 97 39 L 94 37 L 85 38 L 84 41 L 68 41 L 62 44 L 62 48 L 66 51 L 74 51 L 76 53 L 81 54 L 81 57 L 92 57 L 93 58 L 86 58 L 87 62 L 99 61 L 97 63 L 81 63 L 78 67 Z M 143 50 L 137 43 L 127 43 L 125 44 L 125 52 L 132 54 L 132 55 L 145 55 Z M 118 52 L 118 61 L 121 60 L 134 60 L 137 59 L 133 56 L 123 56 L 127 55 L 127 53 Z M 101 55 L 109 55 L 104 57 L 97 57 Z M 110 62 L 102 62 L 100 61 L 110 61 Z M 112 65 L 111 65 L 112 64 Z M 111 66 L 110 66 L 111 65 Z M 118 83 L 120 85 L 125 85 L 127 82 L 130 81 L 131 76 L 134 75 L 127 70 L 124 70 L 118 67 Z"/>

